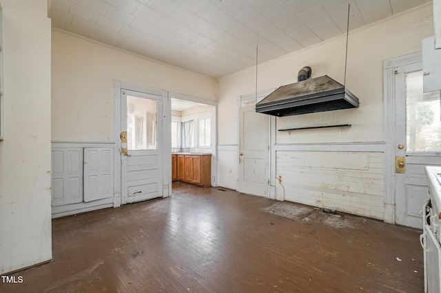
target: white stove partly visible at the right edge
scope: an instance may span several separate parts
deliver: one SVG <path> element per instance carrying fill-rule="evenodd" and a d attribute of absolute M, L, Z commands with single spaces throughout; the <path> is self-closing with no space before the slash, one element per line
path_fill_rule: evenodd
<path fill-rule="evenodd" d="M 441 167 L 427 166 L 429 197 L 422 207 L 420 236 L 424 250 L 424 292 L 441 291 Z"/>

